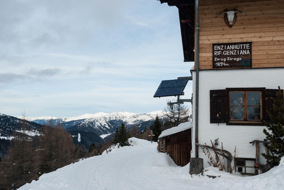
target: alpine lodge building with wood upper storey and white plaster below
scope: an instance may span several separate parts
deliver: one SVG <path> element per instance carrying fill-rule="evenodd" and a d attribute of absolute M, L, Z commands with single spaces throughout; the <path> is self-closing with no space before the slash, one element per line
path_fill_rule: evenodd
<path fill-rule="evenodd" d="M 266 164 L 261 153 L 269 154 L 264 121 L 270 121 L 277 87 L 284 88 L 284 0 L 158 1 L 178 8 L 184 62 L 194 62 L 190 77 L 164 81 L 173 86 L 162 81 L 154 96 L 174 95 L 178 102 L 192 103 L 192 127 L 184 133 L 191 142 L 186 160 L 203 158 L 204 167 L 209 166 L 202 148 L 212 141 L 217 149 L 222 143 L 227 171 L 261 173 L 260 165 Z M 186 80 L 181 93 L 170 94 L 181 80 Z M 183 101 L 188 80 L 193 94 L 191 101 Z M 167 139 L 162 142 L 168 153 Z M 176 152 L 183 157 L 183 151 Z"/>

